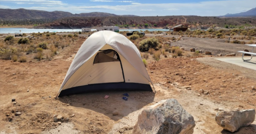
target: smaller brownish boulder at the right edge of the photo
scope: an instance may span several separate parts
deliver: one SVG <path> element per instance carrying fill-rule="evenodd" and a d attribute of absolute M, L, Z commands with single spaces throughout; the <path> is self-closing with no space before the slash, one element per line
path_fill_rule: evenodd
<path fill-rule="evenodd" d="M 255 110 L 219 111 L 215 117 L 216 122 L 223 129 L 234 132 L 240 127 L 250 125 L 255 118 Z"/>

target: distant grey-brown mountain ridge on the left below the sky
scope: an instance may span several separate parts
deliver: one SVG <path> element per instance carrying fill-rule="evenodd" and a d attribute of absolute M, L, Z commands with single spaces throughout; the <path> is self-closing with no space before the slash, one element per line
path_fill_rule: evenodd
<path fill-rule="evenodd" d="M 104 17 L 104 16 L 135 16 L 135 15 L 116 15 L 103 12 L 91 12 L 72 14 L 63 11 L 41 11 L 41 10 L 28 10 L 28 9 L 0 9 L 0 19 L 58 19 L 64 17 Z"/>

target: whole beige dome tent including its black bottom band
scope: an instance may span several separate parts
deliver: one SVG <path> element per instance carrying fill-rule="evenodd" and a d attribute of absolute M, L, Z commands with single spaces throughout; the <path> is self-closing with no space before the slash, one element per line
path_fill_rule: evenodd
<path fill-rule="evenodd" d="M 136 46 L 119 33 L 100 31 L 78 50 L 57 97 L 109 90 L 152 91 L 149 82 Z"/>

